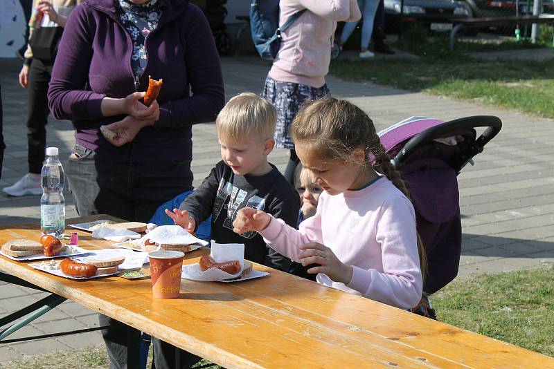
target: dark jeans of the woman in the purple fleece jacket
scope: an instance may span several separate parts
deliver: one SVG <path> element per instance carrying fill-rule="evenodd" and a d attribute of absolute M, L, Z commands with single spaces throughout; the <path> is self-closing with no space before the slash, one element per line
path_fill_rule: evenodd
<path fill-rule="evenodd" d="M 190 160 L 139 164 L 117 162 L 114 158 L 107 158 L 75 144 L 65 168 L 69 189 L 80 216 L 109 214 L 146 223 L 163 202 L 193 188 Z M 102 314 L 98 320 L 101 326 L 118 323 Z M 135 352 L 139 352 L 139 339 L 136 342 L 127 341 L 129 332 L 134 331 L 134 328 L 126 325 L 102 330 L 110 369 L 127 368 L 128 345 L 134 345 Z M 136 333 L 134 336 L 139 337 Z M 161 345 L 154 343 L 154 348 L 157 344 Z M 172 363 L 172 360 L 175 360 L 175 354 L 165 361 L 160 357 L 157 359 L 160 365 L 156 368 L 170 368 L 163 363 Z"/>

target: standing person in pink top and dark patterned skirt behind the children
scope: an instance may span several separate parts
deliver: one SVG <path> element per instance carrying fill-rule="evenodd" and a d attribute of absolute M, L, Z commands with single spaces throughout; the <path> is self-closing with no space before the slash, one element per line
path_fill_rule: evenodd
<path fill-rule="evenodd" d="M 292 183 L 298 157 L 290 138 L 290 124 L 306 100 L 330 95 L 325 84 L 337 21 L 358 21 L 356 0 L 280 0 L 279 24 L 306 9 L 281 34 L 279 52 L 269 70 L 262 96 L 277 109 L 276 147 L 290 149 L 285 178 Z"/>

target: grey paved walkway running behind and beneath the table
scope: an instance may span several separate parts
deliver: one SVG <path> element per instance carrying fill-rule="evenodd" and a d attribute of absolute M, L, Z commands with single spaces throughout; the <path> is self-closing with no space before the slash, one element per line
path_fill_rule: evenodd
<path fill-rule="evenodd" d="M 269 64 L 258 58 L 223 59 L 227 98 L 240 91 L 260 91 Z M 8 149 L 0 187 L 11 185 L 26 173 L 26 95 L 17 85 L 19 61 L 0 59 L 4 103 L 4 134 Z M 411 115 L 452 120 L 469 115 L 497 115 L 501 133 L 458 177 L 463 214 L 463 253 L 459 276 L 501 272 L 554 261 L 554 129 L 553 120 L 513 111 L 488 108 L 445 97 L 410 93 L 370 83 L 343 82 L 329 77 L 334 95 L 359 104 L 377 129 Z M 193 171 L 199 185 L 219 160 L 213 124 L 194 128 Z M 69 122 L 48 124 L 48 144 L 60 147 L 67 157 L 73 144 Z M 286 152 L 277 150 L 270 160 L 283 169 Z M 76 216 L 71 196 L 66 196 L 67 216 Z M 39 197 L 8 198 L 0 194 L 0 224 L 38 223 Z M 1 285 L 0 317 L 44 296 L 23 287 Z M 66 302 L 37 319 L 13 337 L 97 326 L 96 314 Z M 0 345 L 0 361 L 22 354 L 39 354 L 101 343 L 100 334 L 44 339 L 39 342 Z"/>

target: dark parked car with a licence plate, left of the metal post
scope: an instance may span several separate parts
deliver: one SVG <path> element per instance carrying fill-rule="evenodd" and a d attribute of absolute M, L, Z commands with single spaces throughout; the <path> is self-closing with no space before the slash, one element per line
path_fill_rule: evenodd
<path fill-rule="evenodd" d="M 387 30 L 395 32 L 400 24 L 401 0 L 384 0 L 385 24 Z M 452 30 L 450 19 L 467 18 L 470 7 L 454 0 L 404 0 L 402 22 L 429 24 L 435 31 Z"/>

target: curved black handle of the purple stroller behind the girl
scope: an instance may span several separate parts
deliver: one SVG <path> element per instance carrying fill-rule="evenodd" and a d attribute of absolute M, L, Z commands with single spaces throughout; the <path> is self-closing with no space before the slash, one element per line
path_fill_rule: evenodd
<path fill-rule="evenodd" d="M 501 128 L 502 121 L 499 117 L 494 115 L 474 115 L 472 117 L 463 117 L 456 120 L 451 120 L 438 126 L 431 127 L 413 136 L 406 144 L 404 148 L 400 150 L 397 155 L 391 160 L 395 169 L 399 169 L 404 162 L 423 144 L 430 142 L 436 138 L 440 138 L 447 133 L 459 131 L 461 129 L 473 129 L 475 127 L 488 127 L 479 138 L 475 140 L 474 146 L 471 147 L 470 152 L 464 155 L 463 162 L 456 166 L 456 173 L 459 173 L 461 169 L 469 162 L 475 155 L 483 152 L 483 147 L 490 140 L 496 136 Z"/>

